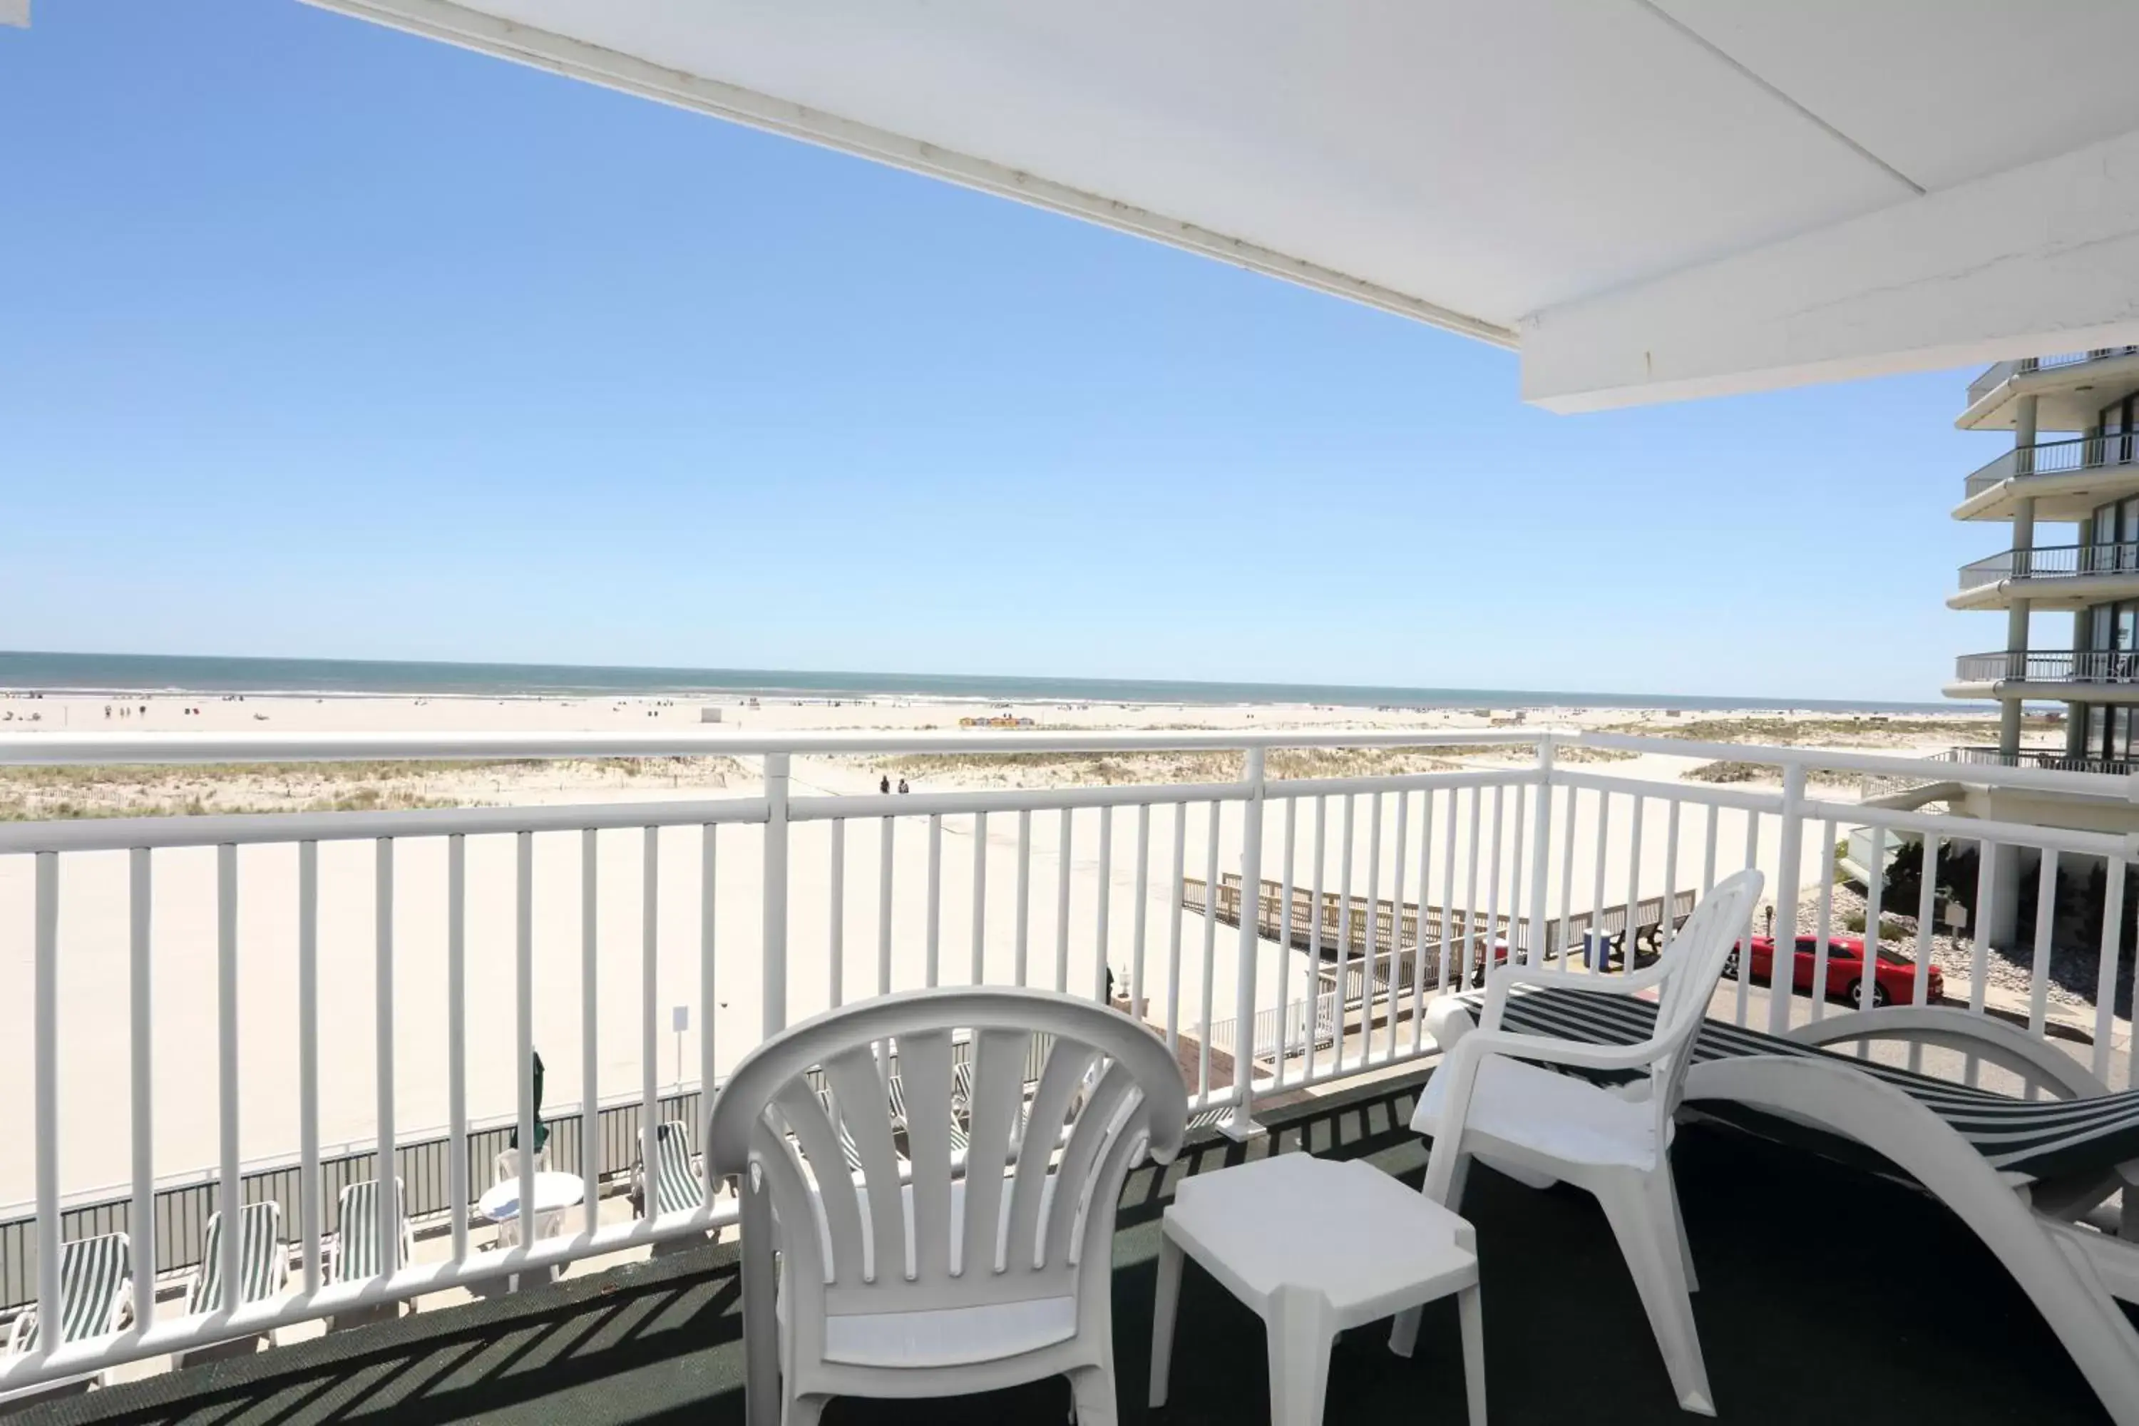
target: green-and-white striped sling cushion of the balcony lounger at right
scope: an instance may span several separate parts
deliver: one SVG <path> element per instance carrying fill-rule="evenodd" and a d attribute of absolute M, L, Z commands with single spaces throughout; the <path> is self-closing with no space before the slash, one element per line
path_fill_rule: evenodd
<path fill-rule="evenodd" d="M 1461 998 L 1474 1016 L 1482 1013 L 1482 992 Z M 1653 1026 L 1656 1005 L 1649 1001 L 1557 988 L 1517 990 L 1508 996 L 1502 1016 L 1502 1028 L 1521 1035 L 1549 1035 L 1596 1045 L 1632 1045 L 1647 1039 Z M 1694 1041 L 1696 1065 L 1754 1054 L 1837 1058 L 1850 1069 L 1884 1080 L 1942 1118 L 1998 1169 L 2030 1178 L 2064 1178 L 2107 1172 L 2139 1159 L 2139 1090 L 2092 1099 L 2013 1099 L 1720 1020 L 1701 1022 L 1701 1037 Z"/>

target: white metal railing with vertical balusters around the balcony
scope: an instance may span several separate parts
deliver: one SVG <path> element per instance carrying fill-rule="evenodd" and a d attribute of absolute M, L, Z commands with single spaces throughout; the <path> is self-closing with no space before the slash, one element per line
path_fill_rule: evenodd
<path fill-rule="evenodd" d="M 1482 742 L 1497 748 L 1465 748 Z M 1313 770 L 1290 761 L 1296 748 L 1427 744 L 1448 770 L 1283 776 Z M 1561 759 L 1568 744 L 1756 763 L 1780 787 L 1615 776 Z M 794 772 L 796 757 L 948 746 L 1228 753 L 1238 770 L 913 795 L 824 793 Z M 761 780 L 732 797 L 584 806 L 0 823 L 0 945 L 26 951 L 0 964 L 28 966 L 9 996 L 30 1007 L 19 1037 L 0 1035 L 13 1090 L 0 1140 L 34 1146 L 28 1202 L 0 1212 L 0 1311 L 58 1321 L 62 1242 L 133 1236 L 133 1326 L 41 1334 L 0 1362 L 0 1392 L 729 1223 L 729 1199 L 712 1195 L 603 1223 L 599 1193 L 659 1122 L 682 1118 L 695 1144 L 702 1086 L 761 1037 L 853 996 L 937 983 L 1099 996 L 1112 977 L 1117 1001 L 1181 1056 L 1191 1103 L 1226 1107 L 1247 1133 L 1262 1097 L 1431 1054 L 1427 998 L 1489 956 L 1624 968 L 1737 866 L 1769 870 L 1775 936 L 1820 936 L 1810 983 L 1827 983 L 1827 936 L 1844 928 L 1825 868 L 1852 830 L 1874 847 L 1979 851 L 1976 926 L 2011 896 L 1991 874 L 2002 855 L 2038 857 L 2051 889 L 2060 857 L 2107 866 L 2098 983 L 2079 1009 L 2051 977 L 2049 915 L 2023 932 L 2017 971 L 1991 975 L 1991 956 L 1934 945 L 1938 879 L 1891 911 L 1917 915 L 1902 947 L 1910 998 L 1929 996 L 1934 958 L 1966 956 L 1944 981 L 1955 1003 L 2047 1037 L 2056 992 L 2060 1016 L 2081 1022 L 2079 1054 L 2109 1073 L 2120 838 L 1863 808 L 1810 782 L 1837 768 L 2098 789 L 2073 772 L 1506 731 L 0 738 L 11 763 L 704 753 L 755 759 Z M 1230 915 L 1224 898 L 1204 913 L 1211 887 L 1232 887 Z M 1256 915 L 1243 887 L 1262 887 Z M 1867 892 L 1874 941 L 1882 894 Z M 1600 936 L 1617 939 L 1611 958 Z M 1730 998 L 1741 1024 L 1752 994 L 1739 981 Z M 689 1054 L 665 1005 L 689 1011 Z M 1784 1028 L 1827 1005 L 1782 986 L 1758 1013 Z M 481 1251 L 481 1163 L 509 1129 L 535 1142 L 537 1050 L 548 1088 L 573 1101 L 539 1116 L 552 1165 L 584 1180 L 584 1202 L 558 1236 Z M 445 1257 L 329 1281 L 329 1189 L 381 1163 L 404 1178 L 411 1212 L 443 1227 Z M 282 1204 L 291 1289 L 158 1317 L 158 1285 L 197 1266 L 205 1212 L 235 1221 L 263 1197 Z M 231 1255 L 235 1240 L 222 1238 Z M 235 1281 L 235 1261 L 222 1268 Z"/>

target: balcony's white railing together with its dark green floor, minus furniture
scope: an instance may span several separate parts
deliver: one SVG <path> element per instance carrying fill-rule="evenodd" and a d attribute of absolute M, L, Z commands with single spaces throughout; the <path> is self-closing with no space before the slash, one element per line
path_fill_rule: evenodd
<path fill-rule="evenodd" d="M 1536 755 L 1508 759 L 1510 742 Z M 1771 780 L 1619 776 L 1615 763 L 1555 759 L 1564 742 L 1728 755 Z M 1437 746 L 1459 765 L 1279 774 L 1292 748 L 1326 746 Z M 1467 746 L 1495 753 L 1461 765 Z M 911 795 L 881 795 L 871 780 L 858 791 L 856 759 L 873 772 L 945 748 L 1230 753 L 1238 776 Z M 2111 832 L 1859 808 L 1835 800 L 1833 780 L 1805 776 L 1831 765 L 2098 795 L 2068 770 L 1718 753 L 1600 731 L 323 735 L 295 753 L 287 738 L 0 735 L 0 761 L 41 765 L 287 765 L 293 755 L 717 755 L 757 768 L 734 761 L 717 793 L 631 802 L 0 823 L 0 911 L 24 949 L 0 966 L 13 977 L 0 979 L 0 1005 L 19 1007 L 21 1067 L 17 1152 L 0 1154 L 0 1204 L 11 1204 L 0 1208 L 0 1317 L 68 1323 L 58 1345 L 0 1353 L 0 1409 L 109 1375 L 113 1385 L 66 1402 L 60 1420 L 742 1420 L 736 1202 L 712 1184 L 704 1199 L 635 1214 L 627 1189 L 655 1127 L 680 1122 L 695 1140 L 702 1088 L 719 1090 L 764 1035 L 828 1005 L 975 983 L 1112 990 L 1117 1009 L 1176 1050 L 1202 1125 L 1247 1110 L 1268 1129 L 1247 1146 L 1204 1135 L 1183 1167 L 1129 1182 L 1117 1343 L 1123 1417 L 1147 1420 L 1153 1219 L 1179 1176 L 1307 1148 L 1369 1157 L 1416 1182 L 1422 1144 L 1405 1122 L 1437 1060 L 1425 1007 L 1442 988 L 1467 986 L 1502 956 L 1609 973 L 1668 954 L 1679 906 L 1745 864 L 1769 874 L 1778 936 L 1790 917 L 1801 932 L 1842 934 L 1846 909 L 1820 887 L 1859 821 L 1874 838 L 2068 864 L 2122 866 L 2126 849 Z M 1256 913 L 1243 906 L 1249 885 L 1264 887 Z M 1917 896 L 1893 889 L 1887 911 L 1932 904 Z M 2128 981 L 2118 958 L 2130 947 L 2115 930 L 2096 945 L 2100 983 Z M 1929 966 L 1895 971 L 1897 1001 L 1929 1005 L 1942 986 L 1955 1013 L 2028 1026 L 2036 1050 L 2130 1082 L 2128 1011 L 2068 1005 L 2062 962 L 2036 954 L 1994 975 L 1989 956 L 1951 939 L 1934 956 L 1942 979 Z M 2088 990 L 2094 977 L 2090 962 Z M 1848 992 L 1827 981 L 1840 996 L 1829 1005 L 1816 981 L 1724 981 L 1709 1016 L 1784 1033 L 1846 1009 Z M 537 1048 L 548 1101 L 528 1073 Z M 543 1204 L 548 1189 L 530 1165 L 492 1165 L 509 1135 L 526 1144 L 541 1131 L 541 1178 L 571 1195 L 533 1242 L 511 1242 L 483 1204 L 501 1191 Z M 1688 1120 L 1675 1154 L 1709 1370 L 1733 1420 L 1865 1409 L 1964 1426 L 2098 1420 L 2030 1300 L 1944 1208 L 1805 1146 L 1707 1120 Z M 381 1182 L 381 1165 L 402 1184 L 413 1242 L 402 1264 L 359 1251 L 351 1270 L 353 1223 L 359 1242 L 394 1242 L 391 1199 L 374 1195 L 349 1219 L 342 1197 Z M 274 1208 L 265 1268 L 250 1272 L 250 1229 L 244 1244 L 220 1236 L 222 1281 L 244 1281 L 246 1300 L 201 1306 L 193 1285 L 216 1242 L 207 1219 L 250 1221 L 246 1206 Z M 1600 1392 L 1628 1420 L 1677 1417 L 1587 1197 L 1517 1189 L 1480 1167 L 1465 1210 L 1491 1244 L 1495 1420 L 1594 1415 Z M 1863 1249 L 1869 1223 L 1878 1253 Z M 708 1231 L 727 1242 L 704 1246 Z M 133 1272 L 107 1289 L 111 1311 L 58 1311 L 64 1246 L 109 1234 L 130 1236 Z M 648 1261 L 657 1249 L 678 1251 Z M 537 1287 L 552 1270 L 563 1281 Z M 1245 1364 L 1260 1326 L 1206 1278 L 1191 1274 L 1187 1291 L 1179 1405 L 1149 1420 L 1256 1420 L 1264 1379 Z M 404 1306 L 413 1315 L 396 1315 Z M 349 1323 L 366 1315 L 389 1319 Z M 1452 1308 L 1446 1330 L 1435 1321 L 1410 1362 L 1388 1355 L 1386 1334 L 1350 1334 L 1330 1373 L 1330 1420 L 1422 1409 L 1461 1420 Z M 1906 1343 L 1865 1351 L 1867 1321 L 1912 1326 Z M 278 1345 L 173 1370 L 175 1355 L 255 1338 Z M 1559 1370 L 1525 1370 L 1540 1340 Z M 1788 1392 L 1773 1390 L 1778 1373 Z M 926 1417 L 873 1402 L 838 1411 L 853 1422 L 1061 1420 L 1063 1405 L 1059 1390 L 1033 1388 Z"/>

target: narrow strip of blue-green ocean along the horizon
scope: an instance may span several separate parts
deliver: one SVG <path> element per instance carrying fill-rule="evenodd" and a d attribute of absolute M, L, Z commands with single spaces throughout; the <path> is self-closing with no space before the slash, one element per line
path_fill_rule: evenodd
<path fill-rule="evenodd" d="M 1328 703 L 1343 708 L 1818 708 L 1955 712 L 1953 703 L 1775 699 L 1572 688 L 1397 688 L 995 673 L 819 673 L 796 669 L 631 669 L 569 663 L 387 663 L 368 658 L 207 658 L 188 654 L 51 654 L 0 650 L 0 688 L 47 693 L 310 693 L 432 697 L 776 695 L 926 697 L 1007 703 Z"/>

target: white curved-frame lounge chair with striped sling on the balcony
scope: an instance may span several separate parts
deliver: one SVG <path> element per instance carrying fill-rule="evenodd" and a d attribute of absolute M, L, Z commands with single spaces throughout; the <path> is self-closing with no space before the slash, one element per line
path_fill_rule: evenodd
<path fill-rule="evenodd" d="M 1482 1003 L 1482 994 L 1437 1001 L 1435 1039 L 1450 1045 Z M 1649 1037 L 1653 1018 L 1641 998 L 1555 986 L 1514 990 L 1502 1028 L 1628 1045 Z M 1840 1050 L 1880 1041 L 1970 1056 L 2043 1097 Z M 2139 1426 L 2139 1332 L 2118 1306 L 2139 1302 L 2139 1090 L 2109 1090 L 2077 1058 L 2002 1020 L 1895 1005 L 1829 1016 L 1786 1037 L 1705 1020 L 1681 1103 L 1778 1137 L 1812 1129 L 1827 1152 L 1872 1150 L 1882 1172 L 1899 1169 L 1998 1255 L 2109 1417 Z M 2105 1202 L 2120 1189 L 2115 1216 Z"/>

